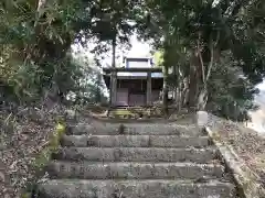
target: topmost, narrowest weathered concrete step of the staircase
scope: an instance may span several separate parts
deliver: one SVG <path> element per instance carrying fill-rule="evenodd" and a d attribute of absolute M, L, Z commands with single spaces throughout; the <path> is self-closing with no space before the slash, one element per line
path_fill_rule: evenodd
<path fill-rule="evenodd" d="M 178 124 L 161 124 L 161 123 L 106 123 L 106 124 L 77 124 L 71 127 L 67 134 L 97 134 L 97 135 L 202 135 L 204 132 L 195 125 L 178 125 Z"/>

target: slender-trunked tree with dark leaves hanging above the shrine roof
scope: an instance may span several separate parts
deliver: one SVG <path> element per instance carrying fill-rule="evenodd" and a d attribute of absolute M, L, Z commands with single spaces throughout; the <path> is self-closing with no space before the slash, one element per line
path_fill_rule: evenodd
<path fill-rule="evenodd" d="M 93 7 L 93 34 L 98 41 L 112 46 L 112 66 L 115 67 L 116 47 L 129 45 L 129 36 L 135 30 L 135 15 L 139 9 L 138 0 L 97 1 Z M 106 47 L 106 46 L 105 46 Z"/>

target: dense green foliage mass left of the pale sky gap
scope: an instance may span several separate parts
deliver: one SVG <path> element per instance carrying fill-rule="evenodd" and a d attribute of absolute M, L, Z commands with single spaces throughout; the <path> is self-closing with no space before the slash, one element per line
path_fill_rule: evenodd
<path fill-rule="evenodd" d="M 64 99 L 77 90 L 83 74 L 68 53 L 86 9 L 82 3 L 52 0 L 40 10 L 32 0 L 0 3 L 1 101 L 38 102 L 46 91 Z"/>

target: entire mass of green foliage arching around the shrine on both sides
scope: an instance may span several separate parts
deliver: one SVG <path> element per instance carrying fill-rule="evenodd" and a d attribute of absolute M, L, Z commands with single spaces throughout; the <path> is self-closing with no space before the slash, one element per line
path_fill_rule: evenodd
<path fill-rule="evenodd" d="M 113 48 L 115 57 L 116 46 L 127 46 L 137 31 L 140 38 L 151 40 L 155 48 L 163 52 L 157 56 L 158 65 L 173 67 L 168 86 L 184 92 L 183 80 L 189 79 L 190 98 L 195 100 L 206 87 L 206 107 L 223 117 L 237 119 L 254 108 L 254 86 L 265 74 L 262 0 L 215 4 L 195 0 L 49 0 L 41 8 L 38 3 L 0 3 L 2 101 L 32 103 L 46 91 L 61 100 L 70 92 L 82 102 L 102 100 L 100 73 L 73 59 L 71 45 L 96 38 L 94 52 Z M 221 55 L 223 52 L 230 53 Z M 237 78 L 234 69 L 246 79 Z"/>

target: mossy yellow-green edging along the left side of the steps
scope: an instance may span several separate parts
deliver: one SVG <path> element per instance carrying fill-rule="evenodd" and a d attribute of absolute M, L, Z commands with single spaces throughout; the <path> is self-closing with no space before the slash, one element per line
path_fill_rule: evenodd
<path fill-rule="evenodd" d="M 51 161 L 51 156 L 53 153 L 56 153 L 60 147 L 60 140 L 65 133 L 66 123 L 60 118 L 57 119 L 57 123 L 54 132 L 49 136 L 47 145 L 39 153 L 35 160 L 32 163 L 32 168 L 35 173 L 35 178 L 26 185 L 26 189 L 21 195 L 21 198 L 32 198 L 34 197 L 34 190 L 36 189 L 38 180 L 44 175 L 44 168 L 47 163 Z"/>

